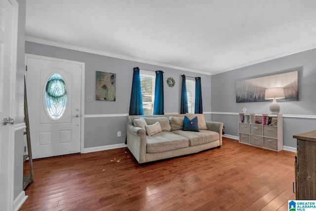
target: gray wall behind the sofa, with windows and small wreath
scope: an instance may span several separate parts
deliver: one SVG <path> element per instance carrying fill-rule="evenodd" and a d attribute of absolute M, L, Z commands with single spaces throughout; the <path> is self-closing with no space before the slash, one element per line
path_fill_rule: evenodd
<path fill-rule="evenodd" d="M 132 86 L 133 68 L 145 70 L 162 70 L 164 72 L 164 112 L 179 113 L 181 97 L 181 75 L 201 77 L 203 111 L 211 111 L 210 81 L 211 76 L 192 72 L 180 71 L 129 60 L 117 59 L 92 53 L 85 53 L 60 47 L 54 47 L 35 42 L 26 42 L 25 52 L 41 56 L 55 57 L 85 63 L 85 115 L 110 115 L 117 117 L 85 118 L 84 120 L 84 148 L 121 144 L 125 142 L 126 119 L 129 112 L 129 102 Z M 96 101 L 95 99 L 95 71 L 117 74 L 116 101 Z M 174 87 L 168 87 L 167 78 L 175 80 Z M 92 102 L 86 97 L 91 96 Z M 209 115 L 210 118 L 210 115 Z M 207 119 L 207 117 L 206 117 Z M 121 131 L 121 137 L 117 137 Z"/>

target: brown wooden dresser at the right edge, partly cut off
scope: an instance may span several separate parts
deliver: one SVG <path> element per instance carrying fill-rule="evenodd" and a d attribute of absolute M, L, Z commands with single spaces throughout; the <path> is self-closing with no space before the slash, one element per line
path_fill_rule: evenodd
<path fill-rule="evenodd" d="M 316 200 L 316 130 L 293 135 L 297 139 L 296 200 Z"/>

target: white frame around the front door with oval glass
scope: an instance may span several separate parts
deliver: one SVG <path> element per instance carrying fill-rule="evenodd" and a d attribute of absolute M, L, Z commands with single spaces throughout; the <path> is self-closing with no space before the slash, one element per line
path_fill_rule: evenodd
<path fill-rule="evenodd" d="M 85 63 L 78 62 L 78 61 L 72 61 L 72 60 L 66 60 L 66 59 L 47 57 L 47 56 L 33 55 L 33 54 L 28 54 L 28 53 L 25 54 L 25 63 L 27 62 L 27 58 L 43 59 L 43 60 L 47 60 L 47 61 L 65 62 L 65 63 L 81 65 L 80 153 L 84 153 L 84 65 L 85 65 Z M 27 74 L 27 72 L 26 72 L 26 74 Z M 30 127 L 32 127 L 32 126 L 30 126 Z"/>

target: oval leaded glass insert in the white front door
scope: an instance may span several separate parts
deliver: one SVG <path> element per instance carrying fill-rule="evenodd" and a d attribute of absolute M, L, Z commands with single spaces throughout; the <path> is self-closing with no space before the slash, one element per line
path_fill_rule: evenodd
<path fill-rule="evenodd" d="M 50 118 L 60 119 L 66 109 L 67 89 L 61 75 L 54 73 L 45 87 L 45 106 Z"/>

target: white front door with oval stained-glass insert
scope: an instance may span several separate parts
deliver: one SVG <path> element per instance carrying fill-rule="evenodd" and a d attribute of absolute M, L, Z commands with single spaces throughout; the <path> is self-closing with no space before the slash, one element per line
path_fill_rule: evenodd
<path fill-rule="evenodd" d="M 82 63 L 26 57 L 33 159 L 80 152 Z"/>

